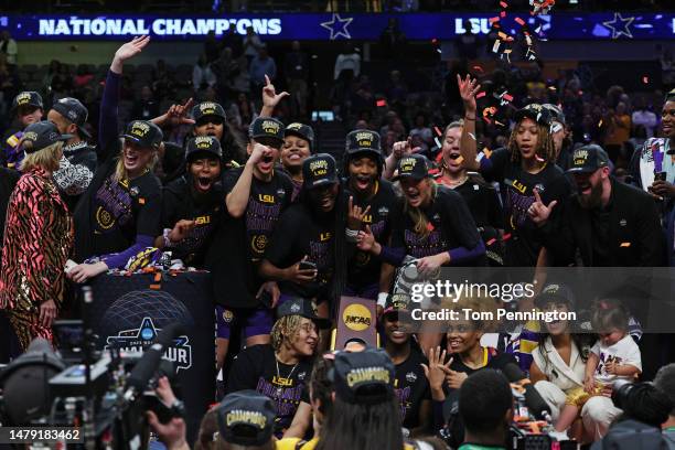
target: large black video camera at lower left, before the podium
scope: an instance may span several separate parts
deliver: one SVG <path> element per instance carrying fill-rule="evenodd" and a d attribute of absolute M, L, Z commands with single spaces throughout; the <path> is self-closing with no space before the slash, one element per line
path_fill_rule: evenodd
<path fill-rule="evenodd" d="M 95 336 L 83 321 L 56 321 L 54 331 L 63 356 L 47 341 L 35 340 L 0 373 L 2 426 L 76 427 L 87 449 L 137 450 L 148 442 L 146 411 L 154 411 L 162 424 L 182 415 L 182 404 L 165 405 L 156 394 L 167 376 L 180 398 L 173 363 L 162 360 L 184 333 L 180 324 L 164 326 L 142 356 L 95 351 Z M 26 376 L 34 383 L 26 384 Z"/>

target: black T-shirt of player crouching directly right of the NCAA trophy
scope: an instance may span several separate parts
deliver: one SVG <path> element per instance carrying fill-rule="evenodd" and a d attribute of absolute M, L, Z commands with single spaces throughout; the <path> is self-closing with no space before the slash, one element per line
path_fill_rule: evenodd
<path fill-rule="evenodd" d="M 408 429 L 420 426 L 421 403 L 431 399 L 429 382 L 421 364 L 428 364 L 425 355 L 411 350 L 408 358 L 395 367 L 394 393 L 400 405 L 400 421 Z"/>

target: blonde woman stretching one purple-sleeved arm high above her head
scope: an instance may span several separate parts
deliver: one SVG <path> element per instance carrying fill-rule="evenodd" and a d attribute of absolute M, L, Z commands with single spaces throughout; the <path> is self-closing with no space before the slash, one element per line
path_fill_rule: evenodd
<path fill-rule="evenodd" d="M 135 38 L 120 46 L 108 71 L 100 104 L 98 168 L 75 210 L 74 258 L 84 260 L 68 271 L 75 282 L 108 269 L 140 268 L 157 254 L 152 247 L 160 234 L 161 185 L 151 169 L 162 131 L 150 121 L 132 120 L 122 139 L 117 135 L 122 66 L 149 41 L 149 36 Z"/>

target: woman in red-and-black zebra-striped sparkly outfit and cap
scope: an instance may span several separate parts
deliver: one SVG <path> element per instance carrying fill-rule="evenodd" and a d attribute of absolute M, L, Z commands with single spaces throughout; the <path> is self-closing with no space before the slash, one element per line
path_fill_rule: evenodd
<path fill-rule="evenodd" d="M 69 138 L 54 124 L 40 121 L 25 129 L 20 142 L 25 158 L 7 210 L 0 308 L 23 351 L 35 338 L 53 341 L 52 322 L 64 298 L 73 224 L 52 173 Z"/>

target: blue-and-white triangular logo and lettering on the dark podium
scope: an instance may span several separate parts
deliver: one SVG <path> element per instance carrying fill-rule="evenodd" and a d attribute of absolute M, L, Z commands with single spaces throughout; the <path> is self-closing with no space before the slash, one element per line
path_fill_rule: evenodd
<path fill-rule="evenodd" d="M 162 330 L 154 328 L 152 319 L 143 318 L 139 328 L 124 330 L 116 336 L 108 336 L 104 350 L 118 349 L 124 352 L 140 353 L 154 342 L 160 331 Z M 163 358 L 173 362 L 176 372 L 192 367 L 192 345 L 188 336 L 183 335 L 173 340 L 173 345 L 167 349 Z"/>

